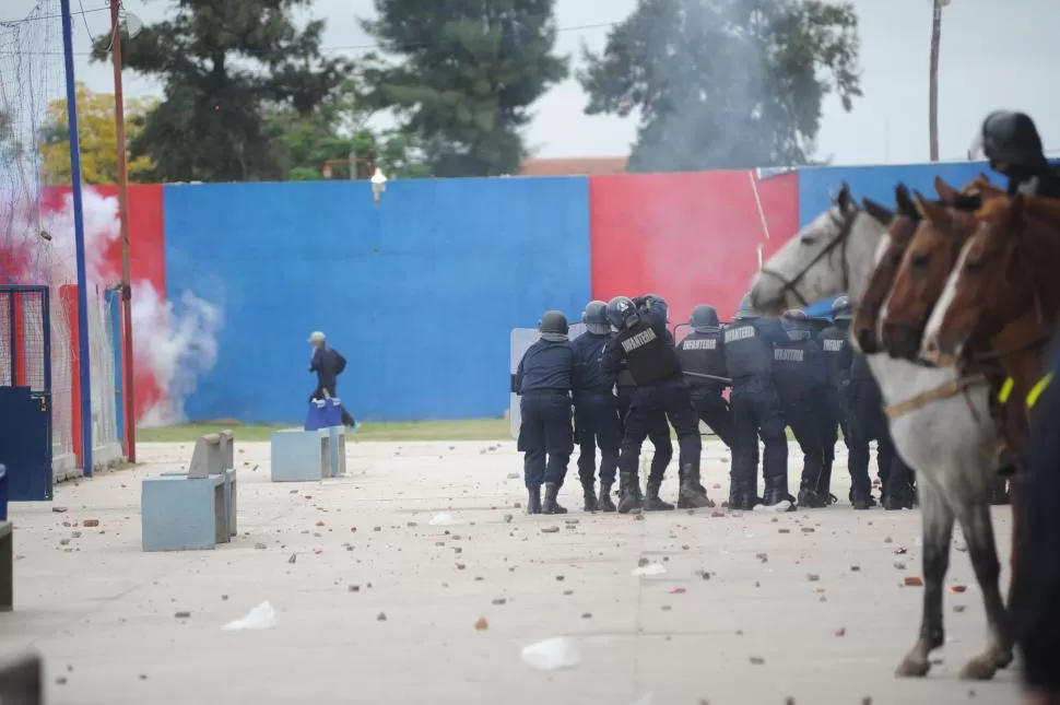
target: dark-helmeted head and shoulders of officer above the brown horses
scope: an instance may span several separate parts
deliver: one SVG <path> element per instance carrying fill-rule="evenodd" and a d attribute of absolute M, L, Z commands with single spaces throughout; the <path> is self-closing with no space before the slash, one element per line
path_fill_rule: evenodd
<path fill-rule="evenodd" d="M 1049 165 L 1030 116 L 994 110 L 982 121 L 974 151 L 1009 177 L 1009 193 L 1060 198 L 1060 174 Z"/>

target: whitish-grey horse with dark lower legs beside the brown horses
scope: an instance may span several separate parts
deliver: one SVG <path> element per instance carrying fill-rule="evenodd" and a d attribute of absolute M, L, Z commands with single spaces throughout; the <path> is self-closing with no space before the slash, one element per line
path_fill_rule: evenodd
<path fill-rule="evenodd" d="M 762 313 L 776 314 L 838 294 L 857 302 L 887 238 L 887 223 L 858 208 L 844 185 L 832 208 L 802 228 L 755 275 L 751 303 Z M 988 628 L 986 650 L 965 665 L 961 677 L 990 679 L 1012 661 L 1012 635 L 998 587 L 1001 567 L 988 502 L 996 477 L 997 432 L 987 387 L 965 387 L 953 368 L 923 367 L 886 353 L 869 355 L 868 362 L 890 407 L 891 435 L 898 455 L 917 470 L 923 521 L 920 635 L 897 674 L 926 675 L 931 651 L 945 641 L 942 592 L 956 519 L 982 590 Z"/>

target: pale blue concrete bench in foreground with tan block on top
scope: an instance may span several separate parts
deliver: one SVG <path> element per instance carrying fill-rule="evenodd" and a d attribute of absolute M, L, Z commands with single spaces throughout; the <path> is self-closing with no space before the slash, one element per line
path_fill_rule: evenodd
<path fill-rule="evenodd" d="M 228 543 L 238 532 L 231 431 L 201 436 L 188 472 L 146 478 L 140 489 L 144 551 L 196 551 Z"/>

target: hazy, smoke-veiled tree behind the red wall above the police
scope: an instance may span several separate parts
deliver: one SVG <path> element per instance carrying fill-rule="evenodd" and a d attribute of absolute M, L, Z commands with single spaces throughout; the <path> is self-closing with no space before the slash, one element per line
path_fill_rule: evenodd
<path fill-rule="evenodd" d="M 629 171 L 796 166 L 824 97 L 861 95 L 858 48 L 849 2 L 639 0 L 578 80 L 587 114 L 639 110 Z"/>

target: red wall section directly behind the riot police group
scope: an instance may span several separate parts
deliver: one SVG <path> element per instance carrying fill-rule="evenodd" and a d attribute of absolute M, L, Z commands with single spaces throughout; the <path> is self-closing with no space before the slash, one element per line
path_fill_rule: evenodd
<path fill-rule="evenodd" d="M 756 184 L 770 239 L 749 172 L 592 177 L 593 298 L 653 293 L 666 297 L 672 324 L 686 322 L 696 304 L 729 319 L 758 269 L 756 246 L 768 258 L 799 230 L 799 175 Z"/>

